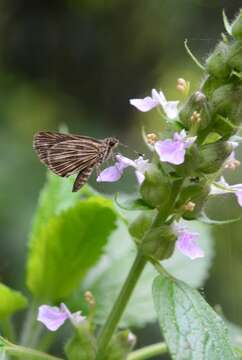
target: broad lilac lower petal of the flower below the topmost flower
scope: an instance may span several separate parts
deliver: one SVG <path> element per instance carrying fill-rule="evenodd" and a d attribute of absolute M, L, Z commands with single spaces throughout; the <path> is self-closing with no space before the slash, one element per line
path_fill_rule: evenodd
<path fill-rule="evenodd" d="M 180 165 L 185 160 L 185 146 L 183 142 L 166 139 L 155 143 L 155 150 L 160 161 Z"/>

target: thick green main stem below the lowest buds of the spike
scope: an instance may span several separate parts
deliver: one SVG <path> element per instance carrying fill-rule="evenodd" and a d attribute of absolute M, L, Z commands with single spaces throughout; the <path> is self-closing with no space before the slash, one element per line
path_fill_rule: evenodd
<path fill-rule="evenodd" d="M 118 298 L 106 320 L 106 323 L 100 331 L 98 337 L 97 360 L 104 358 L 107 345 L 113 336 L 146 262 L 147 260 L 145 257 L 138 252 Z"/>

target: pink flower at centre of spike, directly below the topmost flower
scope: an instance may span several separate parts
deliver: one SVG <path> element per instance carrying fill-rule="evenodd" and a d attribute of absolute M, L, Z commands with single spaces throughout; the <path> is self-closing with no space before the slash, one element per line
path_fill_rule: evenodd
<path fill-rule="evenodd" d="M 186 149 L 195 141 L 196 136 L 187 137 L 186 131 L 175 133 L 173 139 L 160 140 L 155 143 L 155 150 L 160 157 L 160 161 L 180 165 L 184 163 Z"/>

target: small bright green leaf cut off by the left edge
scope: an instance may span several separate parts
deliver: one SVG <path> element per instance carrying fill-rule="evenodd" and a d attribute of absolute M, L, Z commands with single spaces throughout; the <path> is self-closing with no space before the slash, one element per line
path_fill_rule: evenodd
<path fill-rule="evenodd" d="M 0 319 L 13 315 L 27 306 L 27 299 L 19 291 L 0 284 Z"/>

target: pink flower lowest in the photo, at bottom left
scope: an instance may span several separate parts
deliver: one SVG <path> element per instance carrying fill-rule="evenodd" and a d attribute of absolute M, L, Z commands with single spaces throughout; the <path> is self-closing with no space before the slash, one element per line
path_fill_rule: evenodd
<path fill-rule="evenodd" d="M 64 303 L 61 303 L 59 307 L 49 305 L 41 305 L 39 307 L 37 320 L 42 322 L 50 331 L 59 329 L 67 319 L 74 326 L 78 326 L 85 320 L 85 317 L 81 316 L 80 311 L 71 313 Z"/>

